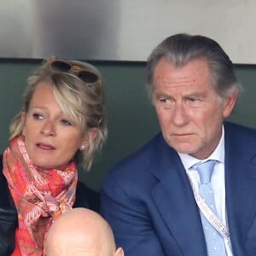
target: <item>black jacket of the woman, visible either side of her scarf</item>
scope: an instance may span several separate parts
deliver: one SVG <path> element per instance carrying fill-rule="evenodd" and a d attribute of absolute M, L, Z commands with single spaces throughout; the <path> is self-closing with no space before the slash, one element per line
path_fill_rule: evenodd
<path fill-rule="evenodd" d="M 79 182 L 73 207 L 85 207 L 99 212 L 99 193 Z M 17 224 L 15 203 L 3 176 L 3 155 L 0 155 L 0 256 L 9 256 L 14 251 Z"/>

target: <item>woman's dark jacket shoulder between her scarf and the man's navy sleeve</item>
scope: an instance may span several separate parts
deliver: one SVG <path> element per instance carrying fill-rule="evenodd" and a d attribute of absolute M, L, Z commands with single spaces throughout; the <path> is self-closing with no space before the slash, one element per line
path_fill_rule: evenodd
<path fill-rule="evenodd" d="M 85 207 L 95 212 L 100 211 L 100 193 L 90 189 L 84 183 L 78 182 L 76 190 L 76 201 L 73 207 Z"/>

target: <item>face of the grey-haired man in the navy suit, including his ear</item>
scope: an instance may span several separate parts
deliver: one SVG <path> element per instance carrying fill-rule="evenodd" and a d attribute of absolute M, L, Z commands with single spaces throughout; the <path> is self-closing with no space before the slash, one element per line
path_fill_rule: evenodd
<path fill-rule="evenodd" d="M 217 147 L 223 119 L 236 102 L 236 93 L 220 99 L 210 75 L 205 59 L 175 67 L 163 58 L 154 70 L 153 101 L 166 143 L 198 159 Z"/>

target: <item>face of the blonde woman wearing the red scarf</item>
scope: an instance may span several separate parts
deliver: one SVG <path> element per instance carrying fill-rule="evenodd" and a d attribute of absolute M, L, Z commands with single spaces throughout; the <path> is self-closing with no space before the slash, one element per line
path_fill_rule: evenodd
<path fill-rule="evenodd" d="M 79 128 L 61 112 L 47 82 L 38 84 L 22 119 L 26 151 L 35 166 L 63 170 L 77 150 L 88 145 Z"/>

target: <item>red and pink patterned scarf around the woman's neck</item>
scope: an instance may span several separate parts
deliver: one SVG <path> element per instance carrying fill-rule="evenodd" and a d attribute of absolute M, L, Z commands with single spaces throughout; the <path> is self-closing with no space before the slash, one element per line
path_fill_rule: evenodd
<path fill-rule="evenodd" d="M 73 207 L 78 172 L 73 162 L 64 171 L 37 170 L 21 137 L 3 153 L 3 174 L 18 212 L 22 255 L 43 255 L 44 236 L 55 218 Z"/>

